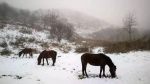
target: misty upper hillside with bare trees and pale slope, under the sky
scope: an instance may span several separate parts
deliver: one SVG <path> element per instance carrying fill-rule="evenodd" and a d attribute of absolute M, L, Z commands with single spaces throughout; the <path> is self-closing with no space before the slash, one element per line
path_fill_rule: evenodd
<path fill-rule="evenodd" d="M 103 20 L 75 10 L 18 9 L 4 2 L 0 3 L 0 28 L 5 24 L 49 29 L 55 38 L 60 39 L 70 39 L 73 34 L 75 37 L 91 38 L 91 33 L 110 26 Z"/>

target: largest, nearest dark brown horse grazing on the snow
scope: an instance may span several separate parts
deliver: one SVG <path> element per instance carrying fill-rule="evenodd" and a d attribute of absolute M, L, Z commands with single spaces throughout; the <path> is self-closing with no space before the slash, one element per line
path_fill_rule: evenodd
<path fill-rule="evenodd" d="M 99 54 L 84 53 L 81 56 L 81 63 L 82 63 L 82 75 L 83 76 L 85 72 L 86 76 L 88 77 L 87 72 L 86 72 L 86 66 L 87 66 L 87 63 L 89 63 L 90 65 L 93 65 L 93 66 L 100 66 L 100 74 L 99 74 L 100 78 L 101 78 L 102 70 L 103 70 L 103 76 L 106 77 L 105 65 L 109 66 L 110 68 L 109 71 L 111 73 L 112 78 L 116 77 L 116 66 L 114 65 L 114 63 L 108 56 L 102 53 L 99 53 Z"/>

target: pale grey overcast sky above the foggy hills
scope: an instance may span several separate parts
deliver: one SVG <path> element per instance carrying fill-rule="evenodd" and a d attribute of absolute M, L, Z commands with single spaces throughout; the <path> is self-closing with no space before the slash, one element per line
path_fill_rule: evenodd
<path fill-rule="evenodd" d="M 17 8 L 67 8 L 82 11 L 114 25 L 134 12 L 139 27 L 150 27 L 150 0 L 0 0 Z"/>

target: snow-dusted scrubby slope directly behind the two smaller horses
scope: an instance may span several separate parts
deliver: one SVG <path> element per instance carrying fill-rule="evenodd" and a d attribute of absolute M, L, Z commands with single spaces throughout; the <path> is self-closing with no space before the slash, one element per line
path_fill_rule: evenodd
<path fill-rule="evenodd" d="M 34 53 L 39 53 L 44 49 L 62 49 L 61 51 L 65 51 L 66 49 L 63 47 L 70 44 L 66 40 L 59 43 L 56 39 L 51 39 L 51 34 L 46 29 L 37 31 L 26 26 L 7 24 L 3 29 L 0 29 L 0 33 L 1 55 L 3 55 L 2 53 L 9 55 L 7 51 L 10 51 L 10 54 L 18 55 L 18 52 L 23 48 L 32 48 L 35 50 Z"/>

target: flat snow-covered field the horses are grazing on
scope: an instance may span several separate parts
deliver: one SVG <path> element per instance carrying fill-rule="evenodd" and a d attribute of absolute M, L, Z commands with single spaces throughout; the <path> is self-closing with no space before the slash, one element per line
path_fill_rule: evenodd
<path fill-rule="evenodd" d="M 106 54 L 117 66 L 117 78 L 99 78 L 100 67 L 87 66 L 89 78 L 81 75 L 82 54 L 58 52 L 55 66 L 37 65 L 37 57 L 19 58 L 0 56 L 0 84 L 150 84 L 150 52 L 139 51 L 125 54 Z M 106 75 L 109 68 L 106 66 Z"/>

